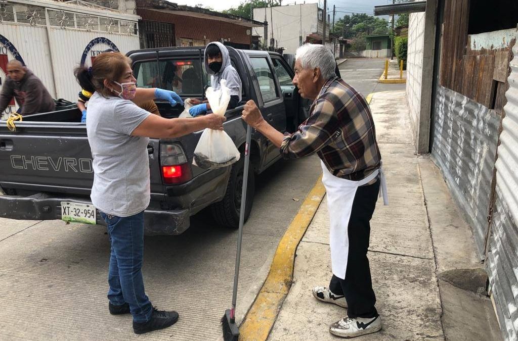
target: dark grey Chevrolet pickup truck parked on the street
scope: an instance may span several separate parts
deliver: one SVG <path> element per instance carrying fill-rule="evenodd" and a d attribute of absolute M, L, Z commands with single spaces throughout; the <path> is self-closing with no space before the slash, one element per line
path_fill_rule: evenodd
<path fill-rule="evenodd" d="M 242 101 L 227 110 L 224 129 L 243 153 L 244 103 L 253 99 L 265 119 L 280 131 L 295 131 L 308 116 L 308 101 L 292 84 L 294 72 L 274 52 L 228 47 L 242 81 Z M 204 47 L 157 48 L 128 52 L 139 87 L 161 87 L 182 98 L 203 98 L 210 79 L 203 67 Z M 182 106 L 156 101 L 166 118 Z M 105 225 L 90 201 L 92 156 L 81 113 L 76 108 L 24 116 L 16 131 L 0 121 L 0 217 L 26 220 L 63 219 Z M 234 165 L 205 170 L 192 165 L 202 131 L 176 139 L 150 139 L 148 145 L 151 203 L 145 211 L 145 233 L 180 234 L 190 217 L 210 207 L 215 223 L 239 223 L 243 157 Z M 274 164 L 275 145 L 254 131 L 251 143 L 246 217 L 253 205 L 254 174 Z M 171 172 L 174 170 L 174 172 Z M 79 207 L 79 208 L 78 208 Z"/>

